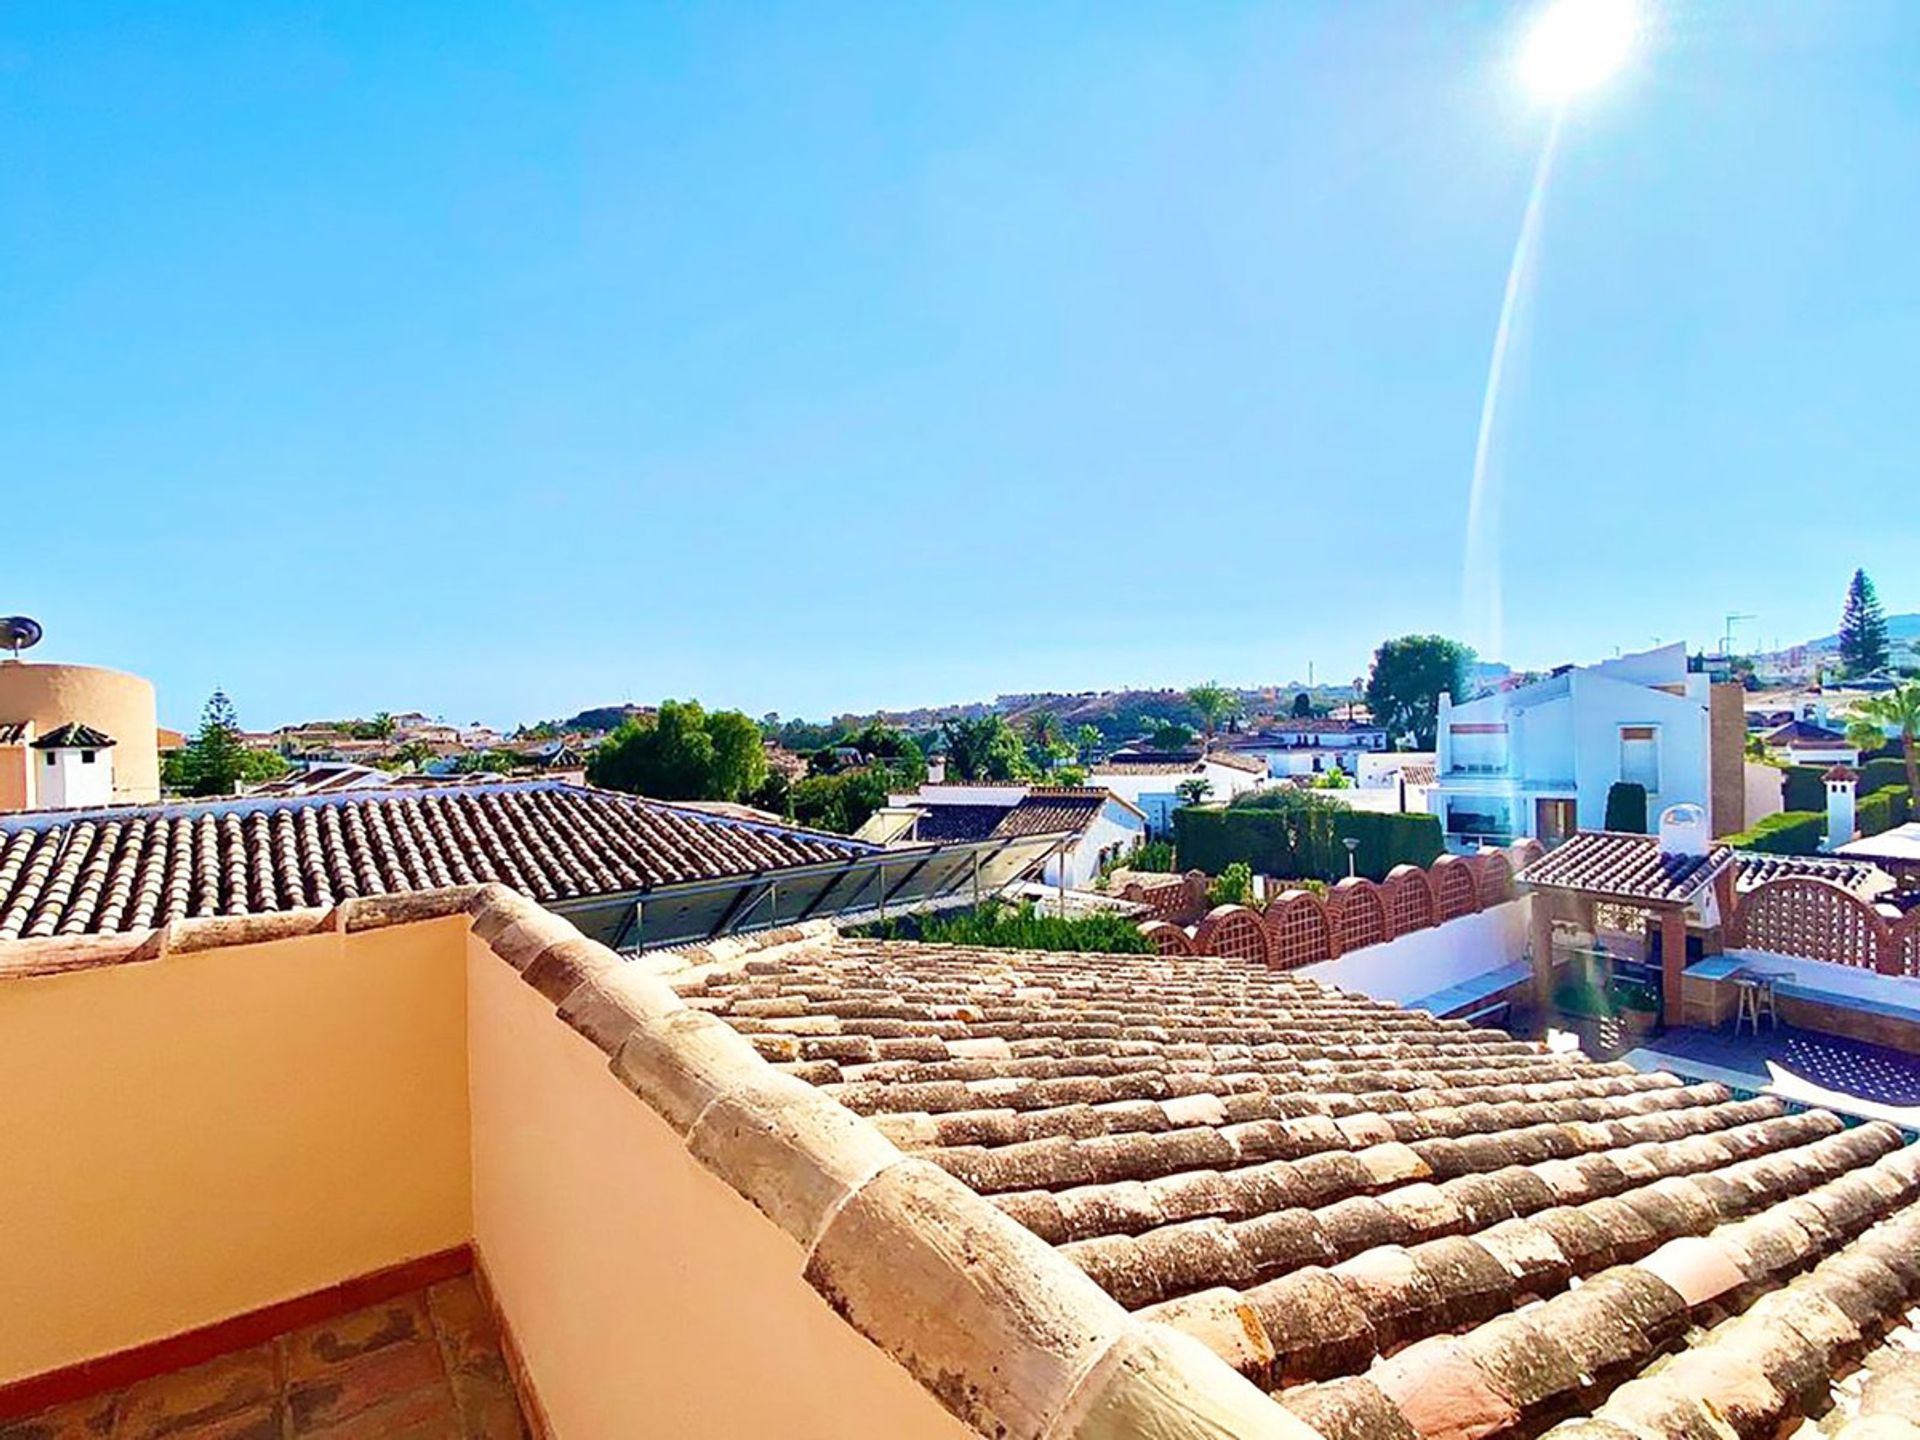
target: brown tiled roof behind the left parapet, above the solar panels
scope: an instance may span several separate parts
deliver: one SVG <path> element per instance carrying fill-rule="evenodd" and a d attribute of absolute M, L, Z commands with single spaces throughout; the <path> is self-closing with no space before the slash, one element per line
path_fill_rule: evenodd
<path fill-rule="evenodd" d="M 536 900 L 872 854 L 555 781 L 0 818 L 0 939 L 142 929 L 440 885 Z"/>

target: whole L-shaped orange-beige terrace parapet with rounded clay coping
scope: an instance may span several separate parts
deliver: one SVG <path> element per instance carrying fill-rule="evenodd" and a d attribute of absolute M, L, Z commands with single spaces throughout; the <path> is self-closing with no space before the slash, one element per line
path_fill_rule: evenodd
<path fill-rule="evenodd" d="M 470 1238 L 564 1440 L 1311 1440 L 660 979 L 814 941 L 490 885 L 0 945 L 0 1380 Z"/>

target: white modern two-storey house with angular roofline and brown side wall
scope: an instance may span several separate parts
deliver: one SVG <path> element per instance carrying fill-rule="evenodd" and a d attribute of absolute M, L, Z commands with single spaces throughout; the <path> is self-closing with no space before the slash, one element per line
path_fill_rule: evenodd
<path fill-rule="evenodd" d="M 1534 837 L 1548 845 L 1574 829 L 1603 829 L 1615 781 L 1647 789 L 1647 816 L 1699 804 L 1715 833 L 1713 697 L 1690 674 L 1686 645 L 1663 645 L 1455 705 L 1440 697 L 1438 758 L 1428 808 L 1457 849 Z M 1734 745 L 1743 739 L 1738 712 Z M 1738 749 L 1728 756 L 1740 808 Z"/>

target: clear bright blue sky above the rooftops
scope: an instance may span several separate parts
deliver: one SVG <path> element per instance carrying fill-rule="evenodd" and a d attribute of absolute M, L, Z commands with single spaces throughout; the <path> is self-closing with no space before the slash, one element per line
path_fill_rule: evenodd
<path fill-rule="evenodd" d="M 6 6 L 0 611 L 259 726 L 1484 643 L 1530 13 Z M 1920 609 L 1920 8 L 1653 23 L 1509 363 L 1523 664 Z"/>

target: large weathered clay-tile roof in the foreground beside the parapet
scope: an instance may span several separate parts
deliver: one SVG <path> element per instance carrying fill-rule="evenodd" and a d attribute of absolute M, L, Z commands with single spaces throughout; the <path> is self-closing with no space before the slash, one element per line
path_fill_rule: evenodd
<path fill-rule="evenodd" d="M 1327 1440 L 1782 1434 L 1920 1296 L 1895 1127 L 1290 973 L 839 941 L 674 989 Z"/>

